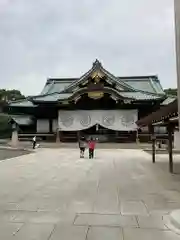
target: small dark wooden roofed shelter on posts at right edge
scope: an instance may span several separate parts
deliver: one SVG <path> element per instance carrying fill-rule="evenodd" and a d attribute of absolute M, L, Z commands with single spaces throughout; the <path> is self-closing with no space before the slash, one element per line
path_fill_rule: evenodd
<path fill-rule="evenodd" d="M 168 154 L 169 154 L 169 171 L 173 173 L 173 135 L 175 128 L 178 126 L 178 101 L 177 99 L 166 106 L 162 106 L 156 112 L 138 120 L 136 122 L 139 128 L 148 126 L 152 140 L 152 162 L 156 162 L 156 133 L 155 126 L 166 126 Z"/>

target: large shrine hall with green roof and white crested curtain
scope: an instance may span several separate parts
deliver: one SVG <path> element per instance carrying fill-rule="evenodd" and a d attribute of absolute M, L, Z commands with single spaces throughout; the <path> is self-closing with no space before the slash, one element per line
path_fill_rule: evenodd
<path fill-rule="evenodd" d="M 11 102 L 5 111 L 22 138 L 76 142 L 83 135 L 134 142 L 148 133 L 136 121 L 173 100 L 157 76 L 118 77 L 96 60 L 83 76 L 50 78 L 39 95 Z"/>

